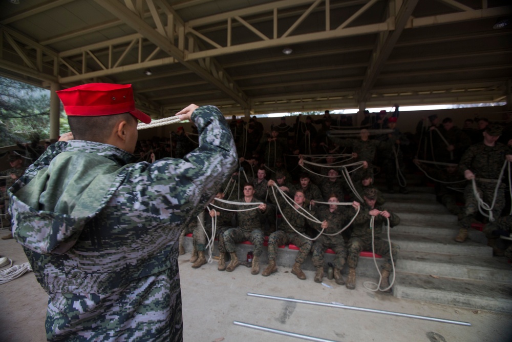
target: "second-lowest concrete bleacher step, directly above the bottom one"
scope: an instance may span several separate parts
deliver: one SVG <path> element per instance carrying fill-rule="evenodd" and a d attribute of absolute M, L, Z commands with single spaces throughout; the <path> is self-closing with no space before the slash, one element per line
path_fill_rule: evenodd
<path fill-rule="evenodd" d="M 504 257 L 468 258 L 449 255 L 400 251 L 397 272 L 493 281 L 512 285 L 512 265 Z"/>

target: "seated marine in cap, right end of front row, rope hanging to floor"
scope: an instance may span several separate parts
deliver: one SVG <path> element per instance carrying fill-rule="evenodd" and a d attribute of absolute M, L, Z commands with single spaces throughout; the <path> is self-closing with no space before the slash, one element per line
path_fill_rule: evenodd
<path fill-rule="evenodd" d="M 390 243 L 383 240 L 381 237 L 382 224 L 386 222 L 386 216 L 389 216 L 390 227 L 398 225 L 400 223 L 400 217 L 389 210 L 375 206 L 375 201 L 377 200 L 377 191 L 375 188 L 367 188 L 363 198 L 365 199 L 365 203 L 361 204 L 359 214 L 352 223 L 352 233 L 347 244 L 347 264 L 349 266 L 347 288 L 349 289 L 353 289 L 355 287 L 355 268 L 359 261 L 359 253 L 364 250 L 372 249 L 372 235 L 374 243 L 373 252 L 382 255 L 384 260 L 384 263 L 381 265 L 383 283 L 385 280 L 388 280 L 389 273 L 393 269 L 391 256 L 393 256 L 393 261 L 396 263 L 398 251 L 400 250 L 400 247 L 397 244 L 391 243 L 390 253 Z M 372 216 L 375 217 L 373 232 L 370 226 Z M 353 281 L 351 281 L 351 277 L 353 277 Z"/>

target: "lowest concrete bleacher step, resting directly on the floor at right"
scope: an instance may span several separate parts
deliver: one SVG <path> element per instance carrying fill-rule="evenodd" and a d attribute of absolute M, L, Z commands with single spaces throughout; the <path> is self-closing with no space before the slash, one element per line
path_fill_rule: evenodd
<path fill-rule="evenodd" d="M 397 298 L 512 313 L 509 284 L 397 272 L 393 294 Z"/>

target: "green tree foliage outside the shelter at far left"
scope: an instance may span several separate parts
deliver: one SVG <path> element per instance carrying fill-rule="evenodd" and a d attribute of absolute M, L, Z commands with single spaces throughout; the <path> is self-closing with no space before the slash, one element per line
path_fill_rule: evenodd
<path fill-rule="evenodd" d="M 61 115 L 61 128 L 69 130 L 66 126 Z M 0 77 L 0 146 L 49 136 L 50 91 Z"/>

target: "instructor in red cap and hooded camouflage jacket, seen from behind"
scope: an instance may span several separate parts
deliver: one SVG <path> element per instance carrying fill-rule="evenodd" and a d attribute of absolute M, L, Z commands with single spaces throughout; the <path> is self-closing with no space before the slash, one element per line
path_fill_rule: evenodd
<path fill-rule="evenodd" d="M 213 106 L 190 105 L 199 147 L 183 159 L 129 164 L 137 142 L 131 85 L 57 92 L 73 135 L 10 189 L 12 231 L 49 294 L 51 341 L 181 341 L 178 236 L 237 164 Z M 73 139 L 74 138 L 74 139 Z"/>

